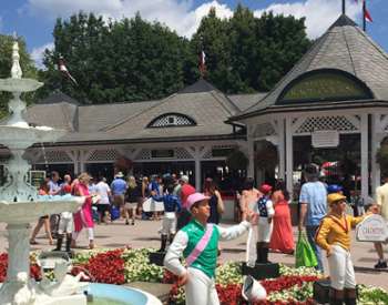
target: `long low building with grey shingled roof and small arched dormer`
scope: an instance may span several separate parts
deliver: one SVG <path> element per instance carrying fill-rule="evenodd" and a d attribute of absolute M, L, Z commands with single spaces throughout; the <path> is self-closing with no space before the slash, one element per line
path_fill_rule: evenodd
<path fill-rule="evenodd" d="M 90 172 L 111 180 L 118 160 L 130 162 L 132 174 L 176 173 L 190 176 L 197 190 L 207 176 L 223 189 L 233 179 L 227 155 L 247 155 L 244 126 L 225 121 L 252 106 L 263 94 L 225 95 L 201 79 L 163 100 L 80 105 L 61 92 L 28 108 L 33 125 L 67 130 L 57 143 L 28 150 L 33 170 L 61 174 Z M 7 150 L 2 149 L 3 159 Z M 243 169 L 237 174 L 245 177 Z"/>

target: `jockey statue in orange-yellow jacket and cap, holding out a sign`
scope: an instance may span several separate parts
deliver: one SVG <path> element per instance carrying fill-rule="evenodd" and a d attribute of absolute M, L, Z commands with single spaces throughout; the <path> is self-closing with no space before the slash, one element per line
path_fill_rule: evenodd
<path fill-rule="evenodd" d="M 330 273 L 330 304 L 356 304 L 356 278 L 350 257 L 350 231 L 367 214 L 354 217 L 345 213 L 346 196 L 333 193 L 327 196 L 330 212 L 321 220 L 315 241 L 327 253 Z M 370 210 L 376 213 L 376 205 Z"/>

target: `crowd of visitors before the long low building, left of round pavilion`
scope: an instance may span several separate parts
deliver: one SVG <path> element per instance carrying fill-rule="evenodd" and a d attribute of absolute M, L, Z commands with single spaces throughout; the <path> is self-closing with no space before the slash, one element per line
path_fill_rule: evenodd
<path fill-rule="evenodd" d="M 88 173 L 82 173 L 74 180 L 70 174 L 65 174 L 62 183 L 60 180 L 58 172 L 51 172 L 50 176 L 41 182 L 38 190 L 39 195 L 72 194 L 84 196 L 85 202 L 76 213 L 62 212 L 60 215 L 40 217 L 32 231 L 30 244 L 38 243 L 35 237 L 44 226 L 50 245 L 54 244 L 53 237 L 55 237 L 57 250 L 61 250 L 65 240 L 65 248 L 70 251 L 71 247 L 76 246 L 79 233 L 85 228 L 89 236 L 89 247 L 93 248 L 94 223 L 109 224 L 123 217 L 125 225 L 135 225 L 135 221 L 140 218 L 160 220 L 163 216 L 163 223 L 166 222 L 166 218 L 172 222 L 169 232 L 164 226 L 161 230 L 161 250 L 164 250 L 167 235 L 172 241 L 176 228 L 183 227 L 191 218 L 185 203 L 188 195 L 195 192 L 195 187 L 190 184 L 187 175 L 177 177 L 175 174 L 166 174 L 139 179 L 130 175 L 125 179 L 122 172 L 118 172 L 111 184 L 108 184 L 103 176 L 94 180 Z M 212 216 L 210 222 L 218 223 L 221 214 L 224 212 L 224 204 L 215 182 L 212 179 L 206 179 L 202 191 L 211 199 Z M 149 199 L 163 202 L 164 212 L 144 212 L 143 203 Z M 174 202 L 173 206 L 172 202 Z"/>

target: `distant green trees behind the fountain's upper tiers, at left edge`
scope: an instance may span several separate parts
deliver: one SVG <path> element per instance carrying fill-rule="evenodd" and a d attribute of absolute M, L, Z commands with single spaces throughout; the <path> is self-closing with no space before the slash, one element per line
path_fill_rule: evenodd
<path fill-rule="evenodd" d="M 11 35 L 0 34 L 0 78 L 7 79 L 11 77 L 12 67 L 12 45 L 14 39 Z M 24 40 L 19 37 L 19 55 L 20 55 L 20 67 L 23 71 L 23 78 L 37 79 L 38 71 L 31 60 L 29 53 L 27 52 Z M 8 102 L 11 98 L 11 93 L 0 91 L 0 118 L 8 114 Z M 28 104 L 33 102 L 37 96 L 34 92 L 22 94 L 21 99 Z"/>

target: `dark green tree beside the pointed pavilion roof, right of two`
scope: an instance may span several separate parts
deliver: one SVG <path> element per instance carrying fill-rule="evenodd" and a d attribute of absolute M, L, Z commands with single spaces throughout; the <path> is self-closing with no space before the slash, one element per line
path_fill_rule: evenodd
<path fill-rule="evenodd" d="M 201 41 L 202 38 L 202 41 Z M 206 78 L 226 93 L 268 91 L 310 47 L 305 20 L 253 12 L 238 4 L 229 20 L 204 17 L 191 45 L 206 53 Z"/>

